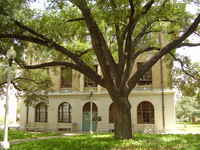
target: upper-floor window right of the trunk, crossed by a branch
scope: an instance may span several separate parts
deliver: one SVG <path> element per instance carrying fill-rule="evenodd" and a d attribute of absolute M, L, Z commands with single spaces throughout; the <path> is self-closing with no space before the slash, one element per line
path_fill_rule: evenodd
<path fill-rule="evenodd" d="M 137 68 L 139 69 L 144 63 L 143 62 L 138 62 L 137 63 Z M 139 85 L 149 85 L 152 84 L 152 69 L 147 71 L 138 81 Z"/>

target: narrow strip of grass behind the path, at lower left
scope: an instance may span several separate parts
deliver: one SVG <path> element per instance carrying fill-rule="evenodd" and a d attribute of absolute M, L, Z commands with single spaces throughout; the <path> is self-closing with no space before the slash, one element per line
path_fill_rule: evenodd
<path fill-rule="evenodd" d="M 27 132 L 21 130 L 9 130 L 8 133 L 9 133 L 9 140 L 60 135 L 60 133 L 55 133 L 55 132 Z M 0 140 L 2 141 L 2 139 L 3 139 L 3 131 L 0 130 Z"/>

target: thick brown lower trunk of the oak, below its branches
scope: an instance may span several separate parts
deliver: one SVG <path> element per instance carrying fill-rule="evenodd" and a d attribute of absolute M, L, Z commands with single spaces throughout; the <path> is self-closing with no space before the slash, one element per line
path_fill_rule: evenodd
<path fill-rule="evenodd" d="M 132 121 L 131 121 L 131 105 L 126 97 L 115 97 L 116 119 L 115 119 L 115 138 L 130 139 L 132 138 Z"/>

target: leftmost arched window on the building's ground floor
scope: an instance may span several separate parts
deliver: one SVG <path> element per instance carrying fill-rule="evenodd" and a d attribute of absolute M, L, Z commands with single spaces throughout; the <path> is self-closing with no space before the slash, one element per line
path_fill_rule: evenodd
<path fill-rule="evenodd" d="M 35 122 L 47 122 L 47 105 L 39 103 L 35 107 Z"/>

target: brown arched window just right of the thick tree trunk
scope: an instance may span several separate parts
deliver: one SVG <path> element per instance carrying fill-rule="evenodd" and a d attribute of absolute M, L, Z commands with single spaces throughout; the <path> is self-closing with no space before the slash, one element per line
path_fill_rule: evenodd
<path fill-rule="evenodd" d="M 154 124 L 154 107 L 150 102 L 142 102 L 137 108 L 137 122 L 141 124 Z"/>

